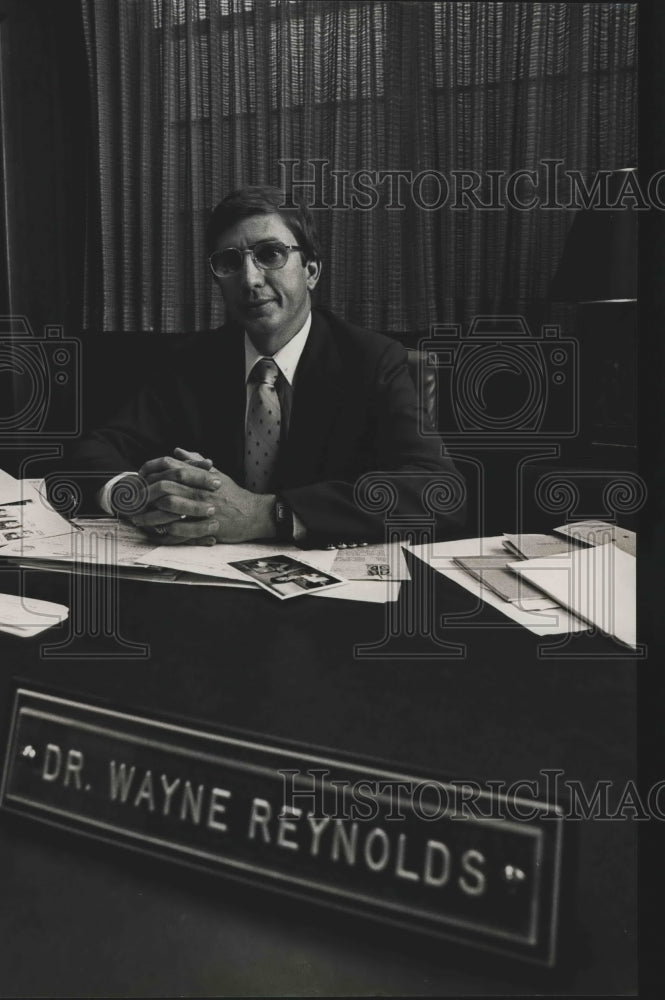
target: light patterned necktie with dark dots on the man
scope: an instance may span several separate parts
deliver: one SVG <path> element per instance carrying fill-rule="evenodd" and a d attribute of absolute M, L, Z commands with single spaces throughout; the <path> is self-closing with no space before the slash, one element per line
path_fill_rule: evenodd
<path fill-rule="evenodd" d="M 277 463 L 282 410 L 276 382 L 279 368 L 272 358 L 261 358 L 250 373 L 254 389 L 249 400 L 245 436 L 245 487 L 269 493 Z"/>

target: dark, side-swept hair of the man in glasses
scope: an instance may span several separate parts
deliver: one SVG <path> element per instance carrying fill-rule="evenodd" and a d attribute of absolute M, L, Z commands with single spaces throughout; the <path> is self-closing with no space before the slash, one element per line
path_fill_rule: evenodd
<path fill-rule="evenodd" d="M 238 188 L 213 209 L 206 230 L 206 247 L 211 254 L 222 233 L 241 219 L 252 215 L 280 215 L 302 248 L 305 260 L 321 260 L 319 237 L 312 214 L 306 205 L 285 208 L 286 196 L 281 188 L 255 186 Z"/>

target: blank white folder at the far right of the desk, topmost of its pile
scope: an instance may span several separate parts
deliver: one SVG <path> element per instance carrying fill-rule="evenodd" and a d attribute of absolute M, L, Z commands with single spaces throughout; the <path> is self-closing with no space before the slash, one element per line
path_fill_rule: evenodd
<path fill-rule="evenodd" d="M 511 563 L 520 576 L 602 632 L 635 648 L 635 556 L 613 542 Z"/>

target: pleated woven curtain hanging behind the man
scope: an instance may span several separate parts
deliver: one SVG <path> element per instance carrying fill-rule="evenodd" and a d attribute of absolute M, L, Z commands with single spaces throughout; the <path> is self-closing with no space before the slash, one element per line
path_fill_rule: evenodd
<path fill-rule="evenodd" d="M 459 197 L 478 175 L 491 206 L 493 182 L 535 171 L 542 187 L 548 160 L 564 187 L 569 171 L 635 164 L 636 4 L 82 8 L 99 171 L 91 329 L 220 323 L 208 211 L 234 187 L 317 170 L 321 184 L 299 191 L 319 203 L 322 303 L 394 332 L 519 308 L 547 296 L 572 210 L 512 204 L 528 201 L 527 177 L 512 201 L 456 206 L 454 182 Z"/>

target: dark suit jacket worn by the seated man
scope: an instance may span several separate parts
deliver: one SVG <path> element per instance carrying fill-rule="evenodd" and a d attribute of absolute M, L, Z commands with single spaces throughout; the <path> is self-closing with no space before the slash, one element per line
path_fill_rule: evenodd
<path fill-rule="evenodd" d="M 201 452 L 242 484 L 244 364 L 244 337 L 237 327 L 193 337 L 79 445 L 70 468 L 83 473 L 88 500 L 111 476 L 176 447 Z M 368 472 L 378 474 L 379 493 L 374 491 L 373 500 L 354 499 L 354 484 Z M 306 544 L 385 537 L 387 511 L 380 501 L 386 495 L 392 498 L 391 517 L 406 517 L 408 527 L 408 519 L 427 516 L 423 488 L 446 478 L 460 481 L 440 438 L 419 429 L 404 348 L 315 309 L 275 483 L 306 526 Z M 446 537 L 458 531 L 462 511 L 439 512 L 435 520 L 437 534 Z"/>

